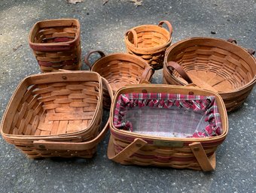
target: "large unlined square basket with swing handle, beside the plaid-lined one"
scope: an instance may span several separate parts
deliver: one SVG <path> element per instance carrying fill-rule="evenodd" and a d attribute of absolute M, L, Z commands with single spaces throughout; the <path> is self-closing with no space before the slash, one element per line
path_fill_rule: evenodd
<path fill-rule="evenodd" d="M 92 157 L 108 129 L 100 129 L 102 83 L 111 95 L 107 80 L 95 72 L 26 77 L 5 110 L 2 136 L 30 158 Z"/>

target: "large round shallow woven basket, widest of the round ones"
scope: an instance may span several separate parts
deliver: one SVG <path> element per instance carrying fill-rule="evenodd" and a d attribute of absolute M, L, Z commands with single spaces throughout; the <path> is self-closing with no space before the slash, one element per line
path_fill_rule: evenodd
<path fill-rule="evenodd" d="M 163 83 L 194 84 L 218 92 L 227 111 L 235 110 L 248 97 L 256 82 L 253 51 L 234 40 L 188 38 L 166 51 Z"/>

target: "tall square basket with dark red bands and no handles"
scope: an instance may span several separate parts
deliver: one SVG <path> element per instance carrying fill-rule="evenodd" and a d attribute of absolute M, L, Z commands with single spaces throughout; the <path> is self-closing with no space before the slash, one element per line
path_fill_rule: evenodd
<path fill-rule="evenodd" d="M 42 72 L 81 68 L 78 20 L 44 20 L 35 23 L 29 33 L 29 46 Z"/>

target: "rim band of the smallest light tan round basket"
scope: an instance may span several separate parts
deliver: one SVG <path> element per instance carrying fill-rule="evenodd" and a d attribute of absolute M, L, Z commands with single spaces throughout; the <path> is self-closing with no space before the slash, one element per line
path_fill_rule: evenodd
<path fill-rule="evenodd" d="M 134 29 L 137 29 L 137 28 L 139 28 L 139 27 L 144 27 L 144 26 L 149 26 L 149 27 L 154 26 L 154 27 L 156 27 L 157 25 L 152 25 L 152 24 L 151 24 L 151 25 L 141 25 L 141 26 L 133 27 L 132 29 L 134 30 Z M 163 27 L 160 27 L 160 26 L 157 26 L 157 27 L 159 27 L 160 29 L 163 29 L 163 30 L 165 30 L 167 33 L 169 33 L 169 31 L 168 31 L 167 29 L 165 29 L 165 28 L 163 28 Z M 135 51 L 136 53 L 141 53 L 141 54 L 144 54 L 144 53 L 158 53 L 158 52 L 160 52 L 160 51 L 162 51 L 162 50 L 165 50 L 166 47 L 168 47 L 169 44 L 172 43 L 172 35 L 169 33 L 169 39 L 168 39 L 168 41 L 166 42 L 166 44 L 162 44 L 162 45 L 160 45 L 160 46 L 158 46 L 158 47 L 149 47 L 149 48 L 135 47 L 134 44 L 132 44 L 132 43 L 128 40 L 128 35 L 127 35 L 127 33 L 130 32 L 130 30 L 132 30 L 132 29 L 129 29 L 129 30 L 127 30 L 127 31 L 125 32 L 125 34 L 124 34 L 124 41 L 125 41 L 126 47 L 129 47 L 130 50 L 132 50 L 132 51 L 133 51 L 133 50 L 136 50 L 136 51 Z"/>

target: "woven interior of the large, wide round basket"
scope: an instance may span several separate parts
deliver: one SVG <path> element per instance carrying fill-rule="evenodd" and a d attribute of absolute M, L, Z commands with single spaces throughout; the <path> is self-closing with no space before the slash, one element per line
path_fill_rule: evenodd
<path fill-rule="evenodd" d="M 231 52 L 228 48 L 234 50 L 234 45 L 224 43 L 228 45 L 219 47 L 216 43 L 218 47 L 213 47 L 184 42 L 169 51 L 168 61 L 178 62 L 196 84 L 200 80 L 220 93 L 232 92 L 254 79 L 256 64 L 245 50 Z M 182 83 L 187 83 L 176 71 L 173 74 Z"/>

